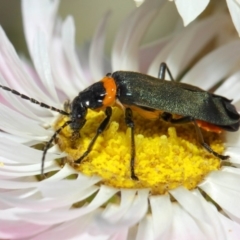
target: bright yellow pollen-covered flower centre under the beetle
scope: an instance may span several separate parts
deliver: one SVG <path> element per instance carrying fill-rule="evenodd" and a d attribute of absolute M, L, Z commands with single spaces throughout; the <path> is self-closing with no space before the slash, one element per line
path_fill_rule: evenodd
<path fill-rule="evenodd" d="M 111 122 L 98 137 L 89 155 L 76 166 L 74 161 L 86 151 L 96 134 L 104 112 L 88 110 L 87 121 L 80 137 L 72 137 L 70 126 L 58 135 L 57 144 L 67 153 L 65 159 L 88 176 L 98 175 L 102 184 L 115 188 L 148 188 L 154 195 L 184 186 L 191 190 L 211 171 L 219 170 L 221 162 L 198 142 L 193 124 L 172 125 L 162 120 L 149 120 L 134 113 L 136 145 L 135 174 L 131 179 L 131 131 L 124 122 L 123 111 L 113 108 Z M 60 128 L 68 117 L 60 116 L 54 128 Z M 204 141 L 217 153 L 224 151 L 223 136 L 201 130 Z"/>

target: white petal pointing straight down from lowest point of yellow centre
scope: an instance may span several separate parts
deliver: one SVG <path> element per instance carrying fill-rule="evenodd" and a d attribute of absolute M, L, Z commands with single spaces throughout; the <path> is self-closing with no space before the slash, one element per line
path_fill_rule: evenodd
<path fill-rule="evenodd" d="M 169 239 L 173 219 L 172 203 L 169 195 L 151 196 L 150 205 L 155 239 Z"/>

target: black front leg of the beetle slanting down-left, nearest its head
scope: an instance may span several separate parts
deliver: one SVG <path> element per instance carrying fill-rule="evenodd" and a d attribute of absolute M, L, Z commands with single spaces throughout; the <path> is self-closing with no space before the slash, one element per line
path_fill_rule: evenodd
<path fill-rule="evenodd" d="M 105 114 L 106 114 L 106 118 L 104 118 L 104 120 L 99 125 L 95 136 L 93 137 L 93 139 L 91 140 L 91 142 L 88 145 L 87 150 L 84 152 L 84 154 L 79 159 L 77 159 L 74 162 L 76 165 L 79 165 L 81 163 L 81 161 L 85 157 L 87 157 L 87 155 L 91 152 L 92 147 L 94 146 L 94 143 L 96 142 L 98 136 L 106 129 L 106 127 L 107 127 L 107 125 L 108 125 L 108 123 L 110 121 L 110 118 L 112 116 L 112 108 L 111 107 L 107 107 L 106 110 L 105 110 Z"/>

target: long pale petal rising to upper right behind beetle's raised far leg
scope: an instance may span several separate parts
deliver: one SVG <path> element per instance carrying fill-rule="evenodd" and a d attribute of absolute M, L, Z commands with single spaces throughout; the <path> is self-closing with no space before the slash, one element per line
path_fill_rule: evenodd
<path fill-rule="evenodd" d="M 224 17 L 214 16 L 184 29 L 158 53 L 149 67 L 148 74 L 156 76 L 161 62 L 166 62 L 174 78 L 177 78 L 206 44 L 216 35 L 224 23 Z M 168 74 L 166 79 L 170 79 Z"/>

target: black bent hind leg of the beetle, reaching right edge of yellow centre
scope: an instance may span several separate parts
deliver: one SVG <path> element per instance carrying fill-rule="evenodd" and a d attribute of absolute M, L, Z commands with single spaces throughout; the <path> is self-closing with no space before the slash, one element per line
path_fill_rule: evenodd
<path fill-rule="evenodd" d="M 206 142 L 204 142 L 202 132 L 201 132 L 200 128 L 198 127 L 198 125 L 197 125 L 197 123 L 196 123 L 196 121 L 193 117 L 182 117 L 182 118 L 173 119 L 172 114 L 167 113 L 167 112 L 164 112 L 161 115 L 161 117 L 164 121 L 170 122 L 170 123 L 173 123 L 173 124 L 181 124 L 181 123 L 192 122 L 195 126 L 199 142 L 209 153 L 213 154 L 214 156 L 216 156 L 217 158 L 219 158 L 221 160 L 227 160 L 229 158 L 229 156 L 224 156 L 224 155 L 218 154 L 217 152 L 213 151 L 213 149 Z"/>

